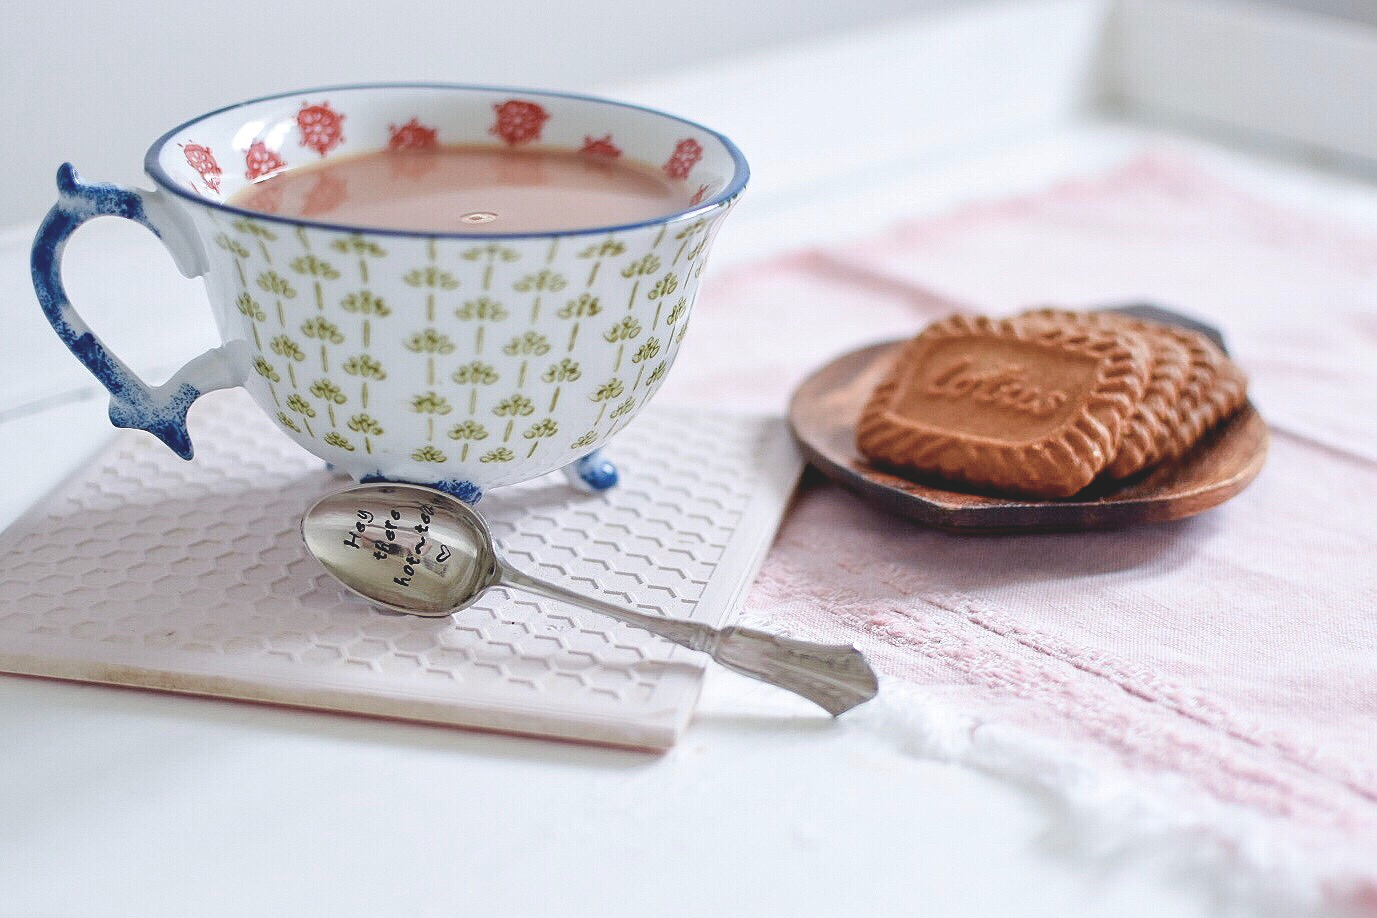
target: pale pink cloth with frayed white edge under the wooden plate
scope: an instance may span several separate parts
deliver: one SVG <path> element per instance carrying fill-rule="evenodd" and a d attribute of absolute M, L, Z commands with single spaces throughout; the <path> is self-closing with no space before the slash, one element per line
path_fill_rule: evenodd
<path fill-rule="evenodd" d="M 1248 370 L 1274 431 L 1248 491 L 1179 523 L 963 537 L 811 480 L 748 615 L 1157 794 L 1259 895 L 1377 914 L 1377 237 L 1148 154 L 719 277 L 666 395 L 781 412 L 832 356 L 954 310 L 1142 300 L 1219 326 Z"/>

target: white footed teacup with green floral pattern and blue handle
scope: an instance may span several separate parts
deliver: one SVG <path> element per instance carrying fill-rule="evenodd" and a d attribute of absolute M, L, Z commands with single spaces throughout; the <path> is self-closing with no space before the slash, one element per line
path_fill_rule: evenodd
<path fill-rule="evenodd" d="M 545 145 L 654 164 L 687 209 L 625 226 L 437 234 L 274 216 L 227 204 L 253 179 L 416 136 Z M 655 394 L 684 337 L 708 249 L 748 179 L 724 136 L 591 96 L 464 85 L 330 87 L 230 106 L 147 151 L 151 191 L 58 171 L 33 244 L 39 301 L 110 392 L 110 421 L 191 458 L 186 413 L 242 385 L 292 439 L 361 480 L 465 500 L 566 469 L 610 487 L 600 447 Z M 324 187 L 319 194 L 330 194 Z M 150 387 L 81 321 L 62 250 L 96 216 L 156 233 L 204 277 L 223 344 Z"/>

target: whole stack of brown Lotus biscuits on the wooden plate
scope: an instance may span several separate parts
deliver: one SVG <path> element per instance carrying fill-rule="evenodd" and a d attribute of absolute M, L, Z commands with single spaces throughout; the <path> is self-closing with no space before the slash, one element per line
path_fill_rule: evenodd
<path fill-rule="evenodd" d="M 856 443 L 883 465 L 1070 497 L 1180 458 L 1246 398 L 1199 332 L 1120 312 L 957 315 L 903 347 Z"/>

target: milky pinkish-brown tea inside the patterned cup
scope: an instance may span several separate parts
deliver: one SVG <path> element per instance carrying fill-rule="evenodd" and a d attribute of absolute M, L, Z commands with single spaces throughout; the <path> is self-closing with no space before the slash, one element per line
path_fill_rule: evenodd
<path fill-rule="evenodd" d="M 571 150 L 380 150 L 278 172 L 230 204 L 387 230 L 541 233 L 638 223 L 688 208 L 658 169 Z"/>

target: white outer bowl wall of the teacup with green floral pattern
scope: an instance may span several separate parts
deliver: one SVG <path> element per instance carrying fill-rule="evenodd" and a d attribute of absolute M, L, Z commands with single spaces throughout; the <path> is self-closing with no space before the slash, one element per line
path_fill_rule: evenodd
<path fill-rule="evenodd" d="M 207 219 L 246 384 L 286 431 L 351 471 L 485 487 L 632 420 L 683 341 L 712 228 L 465 242 Z"/>

